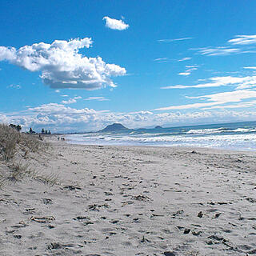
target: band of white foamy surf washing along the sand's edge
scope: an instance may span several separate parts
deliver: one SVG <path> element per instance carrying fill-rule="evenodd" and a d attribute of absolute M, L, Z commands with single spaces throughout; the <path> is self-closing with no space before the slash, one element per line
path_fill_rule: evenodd
<path fill-rule="evenodd" d="M 198 146 L 234 150 L 256 150 L 256 134 L 194 134 L 173 136 L 141 136 L 142 134 L 72 134 L 71 143 L 93 145 Z"/>

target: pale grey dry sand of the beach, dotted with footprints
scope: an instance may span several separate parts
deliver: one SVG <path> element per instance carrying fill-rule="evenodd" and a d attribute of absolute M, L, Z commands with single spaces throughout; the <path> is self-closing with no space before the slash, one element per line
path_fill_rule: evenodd
<path fill-rule="evenodd" d="M 0 255 L 256 254 L 255 156 L 54 142 L 58 184 L 0 190 Z"/>

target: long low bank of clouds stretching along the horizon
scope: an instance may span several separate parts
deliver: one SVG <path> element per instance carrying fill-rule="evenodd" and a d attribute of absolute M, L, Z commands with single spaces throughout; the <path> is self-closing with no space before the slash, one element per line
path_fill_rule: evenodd
<path fill-rule="evenodd" d="M 121 122 L 130 128 L 156 125 L 182 125 L 198 122 L 230 122 L 232 120 L 253 120 L 256 111 L 213 110 L 190 112 L 163 112 L 142 110 L 133 113 L 115 113 L 107 110 L 75 109 L 63 104 L 49 103 L 42 106 L 30 107 L 16 113 L 0 113 L 0 122 L 21 124 L 22 130 L 41 131 L 42 128 L 52 132 L 70 132 L 101 130 L 113 122 Z"/>

